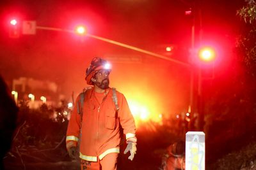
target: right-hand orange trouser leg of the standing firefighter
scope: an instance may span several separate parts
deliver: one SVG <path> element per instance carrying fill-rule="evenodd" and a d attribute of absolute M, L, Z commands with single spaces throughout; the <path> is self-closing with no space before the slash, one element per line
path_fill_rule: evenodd
<path fill-rule="evenodd" d="M 116 170 L 118 154 L 119 153 L 108 153 L 108 155 L 100 160 L 102 170 Z"/>

